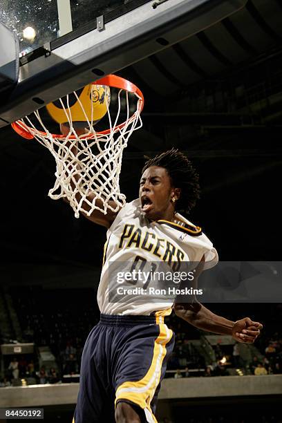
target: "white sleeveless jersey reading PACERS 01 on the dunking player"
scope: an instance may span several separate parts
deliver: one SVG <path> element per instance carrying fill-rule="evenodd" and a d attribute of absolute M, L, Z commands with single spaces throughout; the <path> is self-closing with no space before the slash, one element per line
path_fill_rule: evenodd
<path fill-rule="evenodd" d="M 167 310 L 173 306 L 152 295 L 126 296 L 120 302 L 109 302 L 109 266 L 113 262 L 133 263 L 141 257 L 147 262 L 199 262 L 205 254 L 207 267 L 218 262 L 218 254 L 211 241 L 189 220 L 176 213 L 175 222 L 149 221 L 142 214 L 140 201 L 133 200 L 120 210 L 107 232 L 104 264 L 97 292 L 102 314 L 143 314 Z"/>

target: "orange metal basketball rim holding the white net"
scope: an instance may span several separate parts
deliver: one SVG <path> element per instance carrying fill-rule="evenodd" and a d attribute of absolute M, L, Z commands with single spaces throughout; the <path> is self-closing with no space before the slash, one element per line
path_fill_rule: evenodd
<path fill-rule="evenodd" d="M 126 79 L 119 77 L 117 75 L 107 75 L 106 77 L 102 77 L 100 79 L 97 79 L 94 82 L 91 82 L 91 84 L 93 85 L 108 85 L 111 86 L 113 88 L 119 88 L 119 89 L 123 89 L 126 91 L 129 91 L 129 93 L 135 93 L 138 95 L 138 97 L 141 98 L 141 102 L 140 102 L 140 107 L 139 107 L 139 111 L 138 113 L 141 113 L 144 107 L 144 95 L 142 94 L 142 91 L 140 91 L 140 89 L 138 88 L 138 86 L 135 86 L 134 84 L 132 84 L 132 82 L 127 81 Z M 133 113 L 133 115 L 131 116 L 132 119 L 135 115 L 137 114 L 137 111 L 135 111 L 135 113 Z M 126 121 L 127 122 L 127 121 Z M 122 122 L 121 124 L 119 124 L 118 126 L 115 126 L 115 131 L 117 129 L 122 129 L 125 125 L 126 122 Z M 32 135 L 32 133 L 30 133 L 30 131 L 35 131 L 34 129 L 30 128 L 30 126 L 28 126 L 27 124 L 21 122 L 21 120 L 17 120 L 16 122 L 13 122 L 11 124 L 12 129 L 14 129 L 15 132 L 17 132 L 19 135 L 21 135 L 22 138 L 26 138 L 26 140 L 32 140 L 32 138 L 35 138 L 34 135 Z M 47 136 L 47 133 L 44 131 L 38 131 L 36 130 L 36 132 L 39 135 L 42 135 L 44 137 Z M 97 132 L 97 135 L 101 134 L 101 135 L 107 135 L 108 133 L 111 132 L 111 129 L 106 129 L 105 131 L 100 131 Z M 52 133 L 51 134 L 53 138 L 58 138 L 59 140 L 64 140 L 66 139 L 65 135 L 62 134 L 55 134 Z M 93 135 L 86 135 L 85 136 L 85 140 L 91 139 L 93 138 Z M 69 140 L 77 140 L 77 137 L 75 135 L 70 135 L 68 137 Z M 82 137 L 80 137 L 79 139 L 82 139 Z"/>

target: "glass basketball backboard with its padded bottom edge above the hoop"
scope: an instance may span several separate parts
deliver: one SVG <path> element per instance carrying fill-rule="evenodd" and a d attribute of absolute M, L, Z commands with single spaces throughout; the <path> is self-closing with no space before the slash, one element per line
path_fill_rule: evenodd
<path fill-rule="evenodd" d="M 194 35 L 247 0 L 0 0 L 19 39 L 19 82 L 0 127 Z"/>

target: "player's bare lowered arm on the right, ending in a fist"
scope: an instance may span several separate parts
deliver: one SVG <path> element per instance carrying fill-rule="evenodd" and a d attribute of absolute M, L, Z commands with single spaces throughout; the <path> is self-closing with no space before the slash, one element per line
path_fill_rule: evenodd
<path fill-rule="evenodd" d="M 196 268 L 194 286 L 196 286 L 198 276 L 203 272 L 204 265 L 205 256 L 203 256 Z M 232 321 L 225 319 L 225 317 L 218 316 L 203 306 L 203 304 L 199 303 L 196 298 L 194 298 L 194 301 L 191 303 L 175 303 L 173 308 L 178 317 L 196 326 L 196 328 L 220 335 L 232 335 L 238 342 L 252 344 L 263 328 L 261 323 L 252 321 L 250 317 Z"/>

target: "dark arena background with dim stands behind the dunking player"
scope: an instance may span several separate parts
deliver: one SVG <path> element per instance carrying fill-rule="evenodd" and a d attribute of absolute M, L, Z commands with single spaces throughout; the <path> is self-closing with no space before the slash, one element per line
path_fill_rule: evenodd
<path fill-rule="evenodd" d="M 35 66 L 43 45 L 59 48 L 63 39 L 68 46 L 96 28 L 102 15 L 104 34 L 108 23 L 114 26 L 140 8 L 167 8 L 167 28 L 175 19 L 168 10 L 173 0 L 64 3 L 71 4 L 72 28 L 59 38 L 64 22 L 55 0 L 0 0 L 0 21 L 19 37 L 20 71 L 28 63 Z M 175 5 L 184 3 L 189 1 Z M 238 1 L 234 13 L 225 12 L 232 1 L 206 3 L 208 11 L 216 7 L 223 13 L 214 21 L 207 17 L 191 33 L 188 18 L 167 36 L 165 28 L 163 35 L 151 30 L 144 40 L 157 47 L 149 51 L 142 44 L 135 59 L 128 47 L 128 63 L 111 63 L 107 73 L 129 79 L 145 98 L 142 129 L 124 151 L 121 191 L 128 200 L 137 198 L 144 156 L 176 147 L 200 174 L 201 198 L 188 218 L 212 240 L 220 261 L 279 262 L 282 3 Z M 197 13 L 198 19 L 201 9 Z M 28 26 L 37 32 L 32 41 L 23 36 Z M 181 34 L 170 39 L 180 26 Z M 126 57 L 124 46 L 120 52 Z M 32 84 L 39 87 L 37 71 L 39 83 Z M 6 100 L 2 95 L 1 111 L 8 109 Z M 0 408 L 44 408 L 46 422 L 71 423 L 82 348 L 100 315 L 96 294 L 106 229 L 75 218 L 66 203 L 48 197 L 55 160 L 8 124 L 0 130 L 0 164 Z M 176 346 L 160 391 L 158 421 L 281 422 L 282 304 L 274 295 L 267 303 L 207 306 L 234 321 L 247 316 L 261 321 L 261 336 L 255 344 L 235 345 L 232 337 L 200 331 L 174 314 L 167 318 Z"/>

